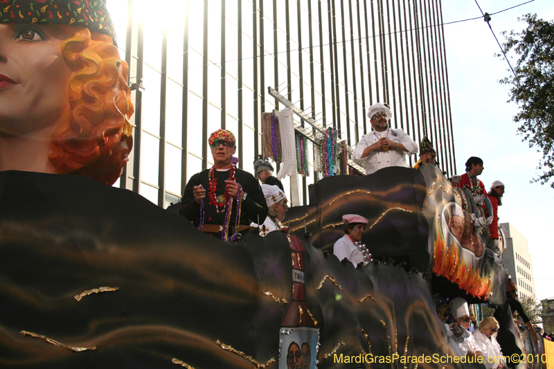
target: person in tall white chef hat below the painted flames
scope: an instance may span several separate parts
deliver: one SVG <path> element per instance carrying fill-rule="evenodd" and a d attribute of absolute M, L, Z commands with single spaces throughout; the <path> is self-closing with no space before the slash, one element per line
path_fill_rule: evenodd
<path fill-rule="evenodd" d="M 465 299 L 456 297 L 452 300 L 452 315 L 454 316 L 454 323 L 447 333 L 448 343 L 454 353 L 458 357 L 482 357 L 483 353 L 479 350 L 479 345 L 469 332 L 473 317 L 470 316 L 470 308 L 467 306 Z"/>

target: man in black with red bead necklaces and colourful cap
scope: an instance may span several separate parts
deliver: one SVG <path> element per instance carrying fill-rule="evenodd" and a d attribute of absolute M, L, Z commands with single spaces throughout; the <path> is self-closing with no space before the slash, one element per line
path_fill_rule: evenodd
<path fill-rule="evenodd" d="M 229 236 L 249 229 L 249 224 L 258 223 L 258 219 L 264 222 L 267 205 L 258 180 L 233 165 L 233 154 L 237 151 L 235 136 L 226 129 L 218 129 L 210 135 L 208 143 L 213 167 L 190 178 L 179 214 L 197 227 L 204 220 L 202 231 L 226 240 L 222 235 L 224 227 L 227 226 Z M 240 219 L 235 224 L 238 206 Z"/>

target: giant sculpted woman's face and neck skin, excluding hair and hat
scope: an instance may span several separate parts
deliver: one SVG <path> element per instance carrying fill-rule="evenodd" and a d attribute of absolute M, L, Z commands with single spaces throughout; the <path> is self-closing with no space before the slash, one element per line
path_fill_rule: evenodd
<path fill-rule="evenodd" d="M 46 138 L 69 107 L 62 42 L 76 27 L 0 24 L 0 136 Z M 80 27 L 82 29 L 82 27 Z"/>

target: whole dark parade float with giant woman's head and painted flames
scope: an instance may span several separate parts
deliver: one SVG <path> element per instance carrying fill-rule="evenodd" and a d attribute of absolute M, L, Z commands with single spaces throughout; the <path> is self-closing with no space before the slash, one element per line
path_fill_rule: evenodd
<path fill-rule="evenodd" d="M 233 243 L 109 186 L 132 148 L 133 105 L 104 4 L 0 3 L 1 368 L 326 369 L 334 353 L 445 356 L 436 289 L 503 303 L 486 229 L 471 229 L 431 165 L 325 178 L 310 206 L 289 210 L 289 234 Z M 349 213 L 369 221 L 364 267 L 322 252 Z"/>

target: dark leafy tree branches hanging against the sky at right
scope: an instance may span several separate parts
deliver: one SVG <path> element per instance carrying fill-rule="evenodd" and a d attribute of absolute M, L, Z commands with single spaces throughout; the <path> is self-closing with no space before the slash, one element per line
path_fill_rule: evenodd
<path fill-rule="evenodd" d="M 554 177 L 554 21 L 531 14 L 518 20 L 525 21 L 527 28 L 520 33 L 512 30 L 503 44 L 506 54 L 512 51 L 519 57 L 514 68 L 516 76 L 500 82 L 512 86 L 508 101 L 519 105 L 514 116 L 520 124 L 518 133 L 529 147 L 542 152 L 537 167 L 542 174 L 533 181 L 545 184 Z"/>

